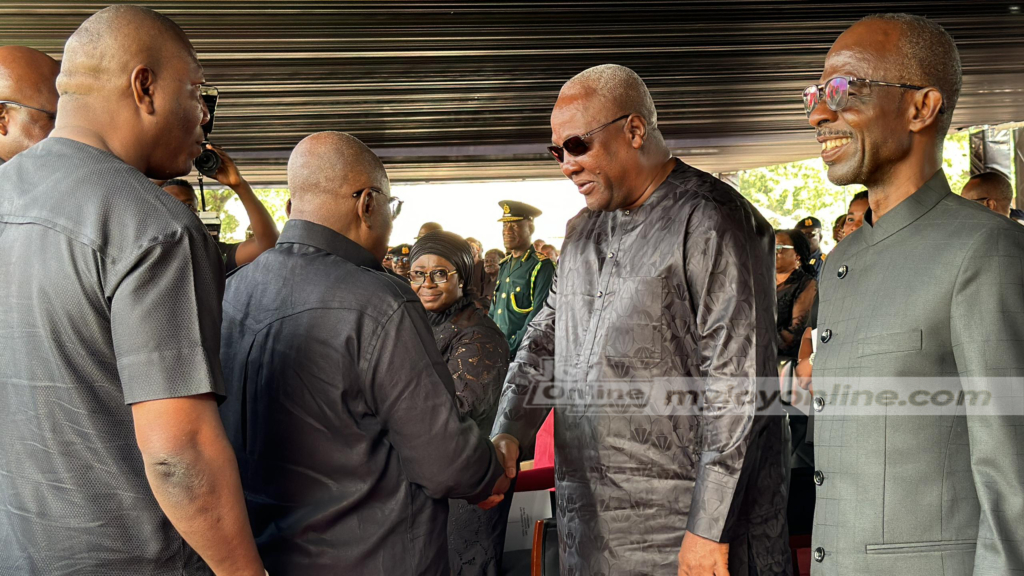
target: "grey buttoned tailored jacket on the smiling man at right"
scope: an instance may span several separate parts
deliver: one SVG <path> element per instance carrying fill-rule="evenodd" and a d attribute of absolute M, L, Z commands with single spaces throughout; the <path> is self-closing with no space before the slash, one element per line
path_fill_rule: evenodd
<path fill-rule="evenodd" d="M 1024 574 L 1024 227 L 941 170 L 870 221 L 819 281 L 811 573 Z"/>

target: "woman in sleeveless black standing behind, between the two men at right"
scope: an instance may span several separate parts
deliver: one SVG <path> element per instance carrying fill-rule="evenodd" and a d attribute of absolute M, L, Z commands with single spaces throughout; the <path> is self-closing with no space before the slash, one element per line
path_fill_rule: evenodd
<path fill-rule="evenodd" d="M 800 349 L 807 318 L 817 293 L 811 247 L 799 231 L 775 233 L 775 296 L 778 299 L 778 359 L 793 360 Z"/>

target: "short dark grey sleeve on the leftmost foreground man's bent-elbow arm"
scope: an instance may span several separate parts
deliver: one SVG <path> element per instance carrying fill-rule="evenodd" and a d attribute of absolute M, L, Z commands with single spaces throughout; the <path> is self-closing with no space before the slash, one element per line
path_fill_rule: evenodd
<path fill-rule="evenodd" d="M 185 229 L 140 250 L 122 270 L 109 297 L 125 403 L 222 397 L 224 272 L 213 240 Z"/>

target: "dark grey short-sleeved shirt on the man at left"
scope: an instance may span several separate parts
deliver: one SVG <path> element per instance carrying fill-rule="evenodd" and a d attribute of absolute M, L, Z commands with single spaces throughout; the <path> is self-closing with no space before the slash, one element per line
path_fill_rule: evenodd
<path fill-rule="evenodd" d="M 184 204 L 47 138 L 0 168 L 0 574 L 209 574 L 127 404 L 223 393 L 224 273 Z"/>

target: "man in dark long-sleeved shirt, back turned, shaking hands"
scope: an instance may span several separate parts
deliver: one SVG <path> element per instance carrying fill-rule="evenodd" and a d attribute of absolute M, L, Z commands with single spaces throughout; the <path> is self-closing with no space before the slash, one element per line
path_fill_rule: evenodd
<path fill-rule="evenodd" d="M 260 554 L 271 574 L 447 575 L 447 499 L 492 507 L 510 482 L 381 266 L 401 203 L 340 132 L 299 142 L 288 186 L 278 246 L 224 294 L 221 413 Z"/>

